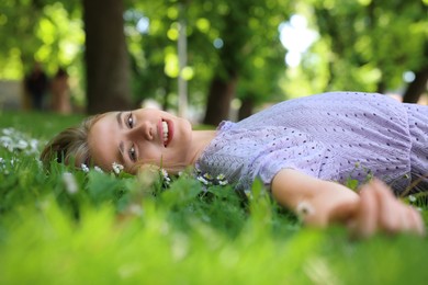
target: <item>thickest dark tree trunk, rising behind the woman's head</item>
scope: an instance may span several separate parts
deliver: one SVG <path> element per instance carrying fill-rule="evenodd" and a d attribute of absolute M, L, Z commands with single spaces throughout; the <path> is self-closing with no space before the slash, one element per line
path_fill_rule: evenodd
<path fill-rule="evenodd" d="M 88 113 L 131 107 L 123 0 L 83 0 Z"/>

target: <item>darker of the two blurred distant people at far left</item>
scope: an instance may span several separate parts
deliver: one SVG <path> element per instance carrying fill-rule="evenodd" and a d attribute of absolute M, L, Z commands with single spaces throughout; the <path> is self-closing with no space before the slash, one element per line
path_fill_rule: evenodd
<path fill-rule="evenodd" d="M 34 110 L 43 110 L 43 99 L 48 88 L 48 78 L 42 69 L 41 62 L 35 62 L 33 69 L 25 77 L 25 89 L 32 100 Z"/>

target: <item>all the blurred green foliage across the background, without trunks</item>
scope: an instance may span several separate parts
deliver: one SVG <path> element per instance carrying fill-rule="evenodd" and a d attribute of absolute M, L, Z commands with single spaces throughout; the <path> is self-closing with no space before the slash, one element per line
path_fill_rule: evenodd
<path fill-rule="evenodd" d="M 330 90 L 394 91 L 403 72 L 427 65 L 427 1 L 135 1 L 125 33 L 136 101 L 177 106 L 177 39 L 187 21 L 189 102 L 202 109 L 214 76 L 238 75 L 236 95 L 262 104 Z M 85 33 L 79 1 L 0 2 L 0 79 L 23 78 L 34 59 L 49 75 L 65 66 L 74 98 L 85 102 Z M 399 11 L 399 13 L 397 13 Z M 296 68 L 284 66 L 279 24 L 304 15 L 318 38 Z M 149 29 L 142 33 L 142 18 Z M 218 48 L 214 45 L 222 43 Z"/>

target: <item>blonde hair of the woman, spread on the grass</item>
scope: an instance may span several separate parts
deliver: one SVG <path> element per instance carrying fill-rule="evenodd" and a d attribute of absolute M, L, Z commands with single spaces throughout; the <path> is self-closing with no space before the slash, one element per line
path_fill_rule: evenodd
<path fill-rule="evenodd" d="M 86 118 L 79 126 L 69 127 L 56 135 L 43 149 L 41 160 L 47 169 L 53 160 L 59 163 L 72 163 L 80 167 L 91 163 L 91 153 L 88 145 L 88 134 L 94 123 L 104 114 Z"/>

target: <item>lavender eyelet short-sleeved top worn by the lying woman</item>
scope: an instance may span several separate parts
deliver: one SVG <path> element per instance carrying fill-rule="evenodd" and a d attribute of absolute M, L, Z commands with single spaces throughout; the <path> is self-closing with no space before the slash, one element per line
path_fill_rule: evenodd
<path fill-rule="evenodd" d="M 331 92 L 275 104 L 239 123 L 223 122 L 196 168 L 247 190 L 269 186 L 285 168 L 346 183 L 376 176 L 397 193 L 428 190 L 428 106 L 373 93 Z"/>

